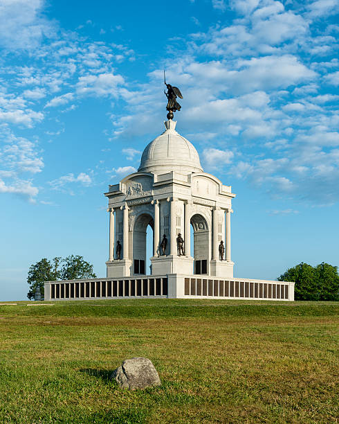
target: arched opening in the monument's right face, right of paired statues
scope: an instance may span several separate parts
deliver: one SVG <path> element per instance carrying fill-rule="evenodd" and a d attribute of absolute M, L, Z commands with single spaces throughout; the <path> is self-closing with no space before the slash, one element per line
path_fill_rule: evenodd
<path fill-rule="evenodd" d="M 193 250 L 194 274 L 208 274 L 210 271 L 210 233 L 208 224 L 202 215 L 196 213 L 191 218 L 191 225 L 193 229 L 191 251 Z"/>

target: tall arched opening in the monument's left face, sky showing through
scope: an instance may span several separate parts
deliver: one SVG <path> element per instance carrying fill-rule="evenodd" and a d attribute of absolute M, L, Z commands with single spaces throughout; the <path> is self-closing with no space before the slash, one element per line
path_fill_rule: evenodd
<path fill-rule="evenodd" d="M 154 220 L 143 213 L 138 216 L 133 227 L 133 274 L 150 274 L 149 258 L 153 251 Z"/>

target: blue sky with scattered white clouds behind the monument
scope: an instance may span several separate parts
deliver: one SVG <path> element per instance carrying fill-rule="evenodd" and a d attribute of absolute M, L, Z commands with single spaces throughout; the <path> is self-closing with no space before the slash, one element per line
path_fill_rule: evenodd
<path fill-rule="evenodd" d="M 0 0 L 1 300 L 79 254 L 105 275 L 108 184 L 177 130 L 237 193 L 235 276 L 339 265 L 338 0 Z"/>

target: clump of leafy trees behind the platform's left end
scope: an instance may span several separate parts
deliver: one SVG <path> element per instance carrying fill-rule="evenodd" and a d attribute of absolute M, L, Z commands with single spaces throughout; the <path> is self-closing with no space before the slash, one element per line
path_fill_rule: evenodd
<path fill-rule="evenodd" d="M 27 278 L 30 290 L 27 297 L 34 299 L 38 286 L 44 296 L 45 281 L 95 279 L 95 277 L 93 265 L 86 262 L 82 256 L 71 255 L 64 259 L 57 257 L 52 261 L 43 258 L 34 265 L 30 265 Z"/>

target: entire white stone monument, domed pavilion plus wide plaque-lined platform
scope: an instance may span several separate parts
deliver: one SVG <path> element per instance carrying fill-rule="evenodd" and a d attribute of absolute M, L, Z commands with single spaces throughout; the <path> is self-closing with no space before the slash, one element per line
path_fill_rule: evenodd
<path fill-rule="evenodd" d="M 169 105 L 173 105 L 170 100 Z M 230 215 L 235 195 L 230 186 L 203 172 L 192 143 L 176 132 L 171 107 L 167 105 L 165 132 L 147 145 L 138 172 L 109 186 L 105 193 L 109 202 L 107 276 L 46 281 L 45 300 L 294 300 L 294 283 L 233 276 Z M 146 270 L 148 225 L 153 229 L 151 274 Z"/>

